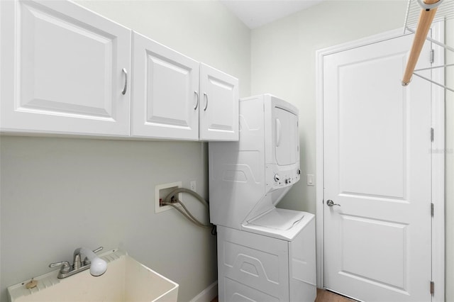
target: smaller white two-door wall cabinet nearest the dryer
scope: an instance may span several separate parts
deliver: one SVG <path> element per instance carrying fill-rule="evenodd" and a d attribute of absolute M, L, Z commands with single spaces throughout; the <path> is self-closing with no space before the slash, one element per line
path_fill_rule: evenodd
<path fill-rule="evenodd" d="M 238 79 L 138 33 L 133 33 L 132 104 L 136 137 L 239 138 Z"/>

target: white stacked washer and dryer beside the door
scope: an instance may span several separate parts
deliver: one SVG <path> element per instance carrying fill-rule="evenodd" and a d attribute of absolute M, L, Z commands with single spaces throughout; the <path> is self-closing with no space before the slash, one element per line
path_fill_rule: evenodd
<path fill-rule="evenodd" d="M 275 206 L 300 179 L 298 109 L 270 94 L 240 99 L 240 140 L 209 143 L 218 299 L 316 298 L 315 219 Z"/>

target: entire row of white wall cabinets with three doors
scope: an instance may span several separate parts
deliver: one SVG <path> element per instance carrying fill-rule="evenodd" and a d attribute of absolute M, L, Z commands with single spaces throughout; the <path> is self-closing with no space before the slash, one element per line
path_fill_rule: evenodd
<path fill-rule="evenodd" d="M 71 1 L 0 17 L 2 133 L 238 140 L 238 79 Z"/>

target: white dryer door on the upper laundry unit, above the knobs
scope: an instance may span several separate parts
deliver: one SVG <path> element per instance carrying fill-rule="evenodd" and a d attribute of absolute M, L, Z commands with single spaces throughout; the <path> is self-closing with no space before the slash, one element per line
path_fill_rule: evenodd
<path fill-rule="evenodd" d="M 277 164 L 295 164 L 299 159 L 298 116 L 277 106 L 273 111 Z"/>

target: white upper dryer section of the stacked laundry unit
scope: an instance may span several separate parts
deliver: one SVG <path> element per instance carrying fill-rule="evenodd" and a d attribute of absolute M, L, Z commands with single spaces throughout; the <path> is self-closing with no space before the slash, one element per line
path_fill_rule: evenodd
<path fill-rule="evenodd" d="M 299 181 L 298 109 L 271 94 L 240 100 L 240 140 L 209 143 L 210 220 L 240 230 Z"/>

